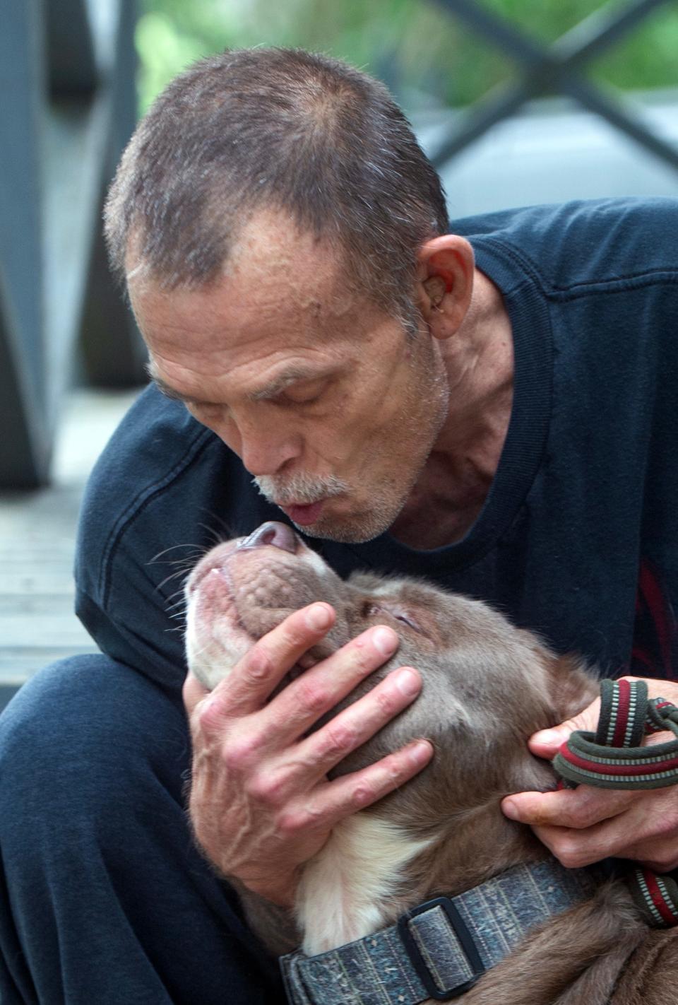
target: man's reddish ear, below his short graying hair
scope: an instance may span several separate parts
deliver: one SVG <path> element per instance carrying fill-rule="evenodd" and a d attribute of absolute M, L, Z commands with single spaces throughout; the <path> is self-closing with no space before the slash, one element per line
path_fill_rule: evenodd
<path fill-rule="evenodd" d="M 419 309 L 436 339 L 449 339 L 468 311 L 473 291 L 473 248 L 458 234 L 422 244 L 417 256 Z"/>

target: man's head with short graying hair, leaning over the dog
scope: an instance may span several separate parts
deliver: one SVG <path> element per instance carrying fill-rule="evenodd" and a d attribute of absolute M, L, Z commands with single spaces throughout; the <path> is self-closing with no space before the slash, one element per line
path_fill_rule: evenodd
<path fill-rule="evenodd" d="M 385 88 L 277 49 L 170 84 L 106 206 L 161 388 L 297 526 L 345 541 L 395 520 L 447 416 L 439 340 L 472 254 L 446 224 Z"/>

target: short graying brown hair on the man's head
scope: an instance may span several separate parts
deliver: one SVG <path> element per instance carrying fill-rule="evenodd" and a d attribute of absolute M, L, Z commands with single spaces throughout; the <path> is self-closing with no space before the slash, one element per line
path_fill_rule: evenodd
<path fill-rule="evenodd" d="M 125 277 L 134 237 L 164 287 L 207 283 L 266 207 L 336 245 L 352 284 L 401 319 L 418 248 L 448 228 L 440 179 L 382 83 L 299 49 L 241 49 L 190 67 L 140 123 L 105 205 L 114 269 Z"/>

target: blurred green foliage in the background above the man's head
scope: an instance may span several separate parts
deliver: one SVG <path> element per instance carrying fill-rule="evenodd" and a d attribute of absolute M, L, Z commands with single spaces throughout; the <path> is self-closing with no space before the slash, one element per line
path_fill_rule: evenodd
<path fill-rule="evenodd" d="M 605 6 L 601 0 L 477 2 L 542 42 Z M 193 60 L 251 45 L 298 45 L 348 59 L 385 80 L 410 112 L 467 105 L 516 74 L 514 60 L 435 0 L 142 0 L 142 111 Z M 660 6 L 589 72 L 622 88 L 678 86 L 678 5 Z"/>

